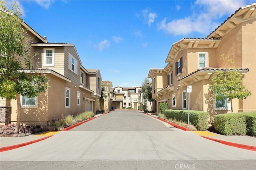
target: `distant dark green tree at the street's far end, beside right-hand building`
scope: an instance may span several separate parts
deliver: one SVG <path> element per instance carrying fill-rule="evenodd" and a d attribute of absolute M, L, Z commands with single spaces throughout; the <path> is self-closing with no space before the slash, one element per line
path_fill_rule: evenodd
<path fill-rule="evenodd" d="M 142 98 L 144 99 L 144 101 L 149 101 L 150 102 L 150 107 L 151 107 L 151 110 L 152 110 L 152 105 L 151 105 L 151 102 L 154 100 L 152 98 L 152 86 L 150 85 L 150 81 L 145 78 L 144 81 L 142 82 L 142 85 L 141 85 L 141 90 L 139 91 L 139 95 L 141 96 L 142 95 Z"/>

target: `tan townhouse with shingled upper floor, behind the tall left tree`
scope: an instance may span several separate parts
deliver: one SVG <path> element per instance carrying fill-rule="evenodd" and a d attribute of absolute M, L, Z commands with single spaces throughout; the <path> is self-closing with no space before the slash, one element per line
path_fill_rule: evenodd
<path fill-rule="evenodd" d="M 21 23 L 30 37 L 30 53 L 35 74 L 45 73 L 49 77 L 49 88 L 38 97 L 21 96 L 21 123 L 25 125 L 47 125 L 49 121 L 66 115 L 100 109 L 101 81 L 99 69 L 85 69 L 72 43 L 48 43 L 25 22 Z M 26 71 L 26 70 L 23 70 Z M 16 123 L 16 100 L 0 99 L 0 107 L 7 108 L 0 121 Z M 0 109 L 2 110 L 2 109 Z"/>

